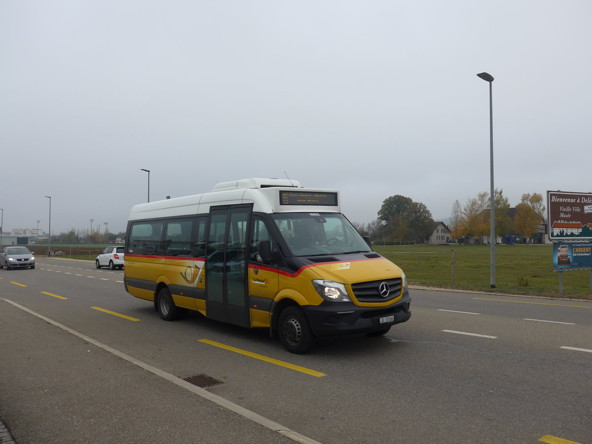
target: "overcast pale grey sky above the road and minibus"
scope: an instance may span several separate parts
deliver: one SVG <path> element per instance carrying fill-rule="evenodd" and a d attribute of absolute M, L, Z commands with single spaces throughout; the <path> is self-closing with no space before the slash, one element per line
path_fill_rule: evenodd
<path fill-rule="evenodd" d="M 495 182 L 592 191 L 592 2 L 0 0 L 5 231 L 124 230 L 248 177 L 435 220 Z"/>

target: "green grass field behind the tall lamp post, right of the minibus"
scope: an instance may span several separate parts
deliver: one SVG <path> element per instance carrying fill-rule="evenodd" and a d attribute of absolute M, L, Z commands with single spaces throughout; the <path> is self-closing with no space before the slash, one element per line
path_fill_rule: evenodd
<path fill-rule="evenodd" d="M 490 288 L 488 245 L 377 245 L 374 250 L 400 266 L 410 284 L 592 300 L 588 270 L 565 271 L 564 292 L 559 294 L 559 273 L 551 271 L 551 245 L 496 245 L 495 289 Z"/>

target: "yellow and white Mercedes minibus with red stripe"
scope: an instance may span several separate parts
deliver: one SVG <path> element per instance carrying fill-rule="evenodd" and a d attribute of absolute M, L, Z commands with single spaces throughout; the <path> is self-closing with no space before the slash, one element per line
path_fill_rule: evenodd
<path fill-rule="evenodd" d="M 292 353 L 317 336 L 379 336 L 411 317 L 403 271 L 341 214 L 339 191 L 289 179 L 135 205 L 124 282 L 164 320 L 196 310 L 266 327 Z"/>

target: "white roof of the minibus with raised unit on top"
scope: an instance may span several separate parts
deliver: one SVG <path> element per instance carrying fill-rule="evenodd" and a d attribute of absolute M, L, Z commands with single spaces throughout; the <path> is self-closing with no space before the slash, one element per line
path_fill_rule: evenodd
<path fill-rule="evenodd" d="M 261 213 L 341 213 L 336 189 L 303 188 L 289 179 L 221 182 L 204 194 L 134 205 L 129 220 L 207 214 L 215 205 L 253 204 Z"/>

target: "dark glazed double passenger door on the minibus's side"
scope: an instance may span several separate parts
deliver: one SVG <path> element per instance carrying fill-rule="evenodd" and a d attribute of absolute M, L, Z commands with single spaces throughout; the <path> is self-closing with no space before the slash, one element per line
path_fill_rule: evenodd
<path fill-rule="evenodd" d="M 247 238 L 252 205 L 210 209 L 205 257 L 205 313 L 215 320 L 250 327 Z"/>

